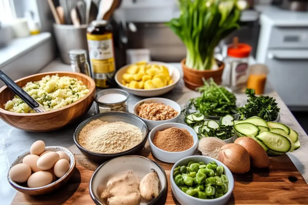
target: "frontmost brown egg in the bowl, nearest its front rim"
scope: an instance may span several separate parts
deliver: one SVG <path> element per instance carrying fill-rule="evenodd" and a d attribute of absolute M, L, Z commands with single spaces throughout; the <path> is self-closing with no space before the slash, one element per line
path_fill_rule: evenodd
<path fill-rule="evenodd" d="M 38 171 L 33 173 L 28 179 L 28 187 L 43 187 L 52 182 L 52 174 L 48 171 Z"/>

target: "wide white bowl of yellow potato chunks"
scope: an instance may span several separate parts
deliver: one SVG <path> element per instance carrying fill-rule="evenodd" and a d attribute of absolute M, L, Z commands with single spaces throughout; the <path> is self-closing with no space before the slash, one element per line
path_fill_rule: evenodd
<path fill-rule="evenodd" d="M 115 73 L 115 81 L 122 89 L 143 97 L 168 93 L 179 80 L 178 69 L 157 61 L 140 61 L 126 65 Z"/>

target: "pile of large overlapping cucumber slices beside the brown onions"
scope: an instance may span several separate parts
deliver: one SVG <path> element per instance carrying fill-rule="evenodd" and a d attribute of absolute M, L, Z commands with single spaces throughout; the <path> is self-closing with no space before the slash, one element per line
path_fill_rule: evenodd
<path fill-rule="evenodd" d="M 257 140 L 270 156 L 283 155 L 300 147 L 298 133 L 292 128 L 279 122 L 267 122 L 257 116 L 235 121 L 234 131 L 238 137 Z"/>

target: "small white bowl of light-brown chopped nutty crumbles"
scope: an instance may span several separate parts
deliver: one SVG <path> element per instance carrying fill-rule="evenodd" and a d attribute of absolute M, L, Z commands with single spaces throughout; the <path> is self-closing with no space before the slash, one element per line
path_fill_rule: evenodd
<path fill-rule="evenodd" d="M 147 123 L 149 130 L 152 130 L 160 124 L 178 122 L 181 107 L 175 101 L 153 97 L 137 102 L 133 112 Z"/>

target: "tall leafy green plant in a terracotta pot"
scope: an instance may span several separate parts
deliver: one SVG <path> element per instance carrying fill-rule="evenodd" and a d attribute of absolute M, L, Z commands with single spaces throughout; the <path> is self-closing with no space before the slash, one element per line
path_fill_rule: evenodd
<path fill-rule="evenodd" d="M 214 49 L 221 39 L 240 27 L 238 21 L 247 2 L 178 0 L 178 5 L 180 17 L 173 18 L 167 26 L 187 48 L 186 58 L 181 61 L 186 86 L 202 86 L 202 77 L 212 77 L 220 84 L 225 64 L 214 58 Z"/>

